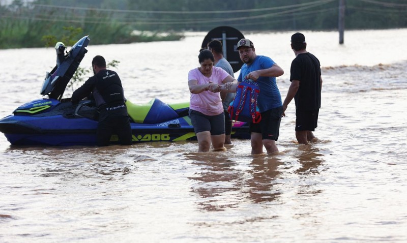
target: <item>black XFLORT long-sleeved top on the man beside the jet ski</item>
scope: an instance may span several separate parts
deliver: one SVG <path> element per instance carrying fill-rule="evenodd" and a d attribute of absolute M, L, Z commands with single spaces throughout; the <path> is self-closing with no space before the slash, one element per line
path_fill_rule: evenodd
<path fill-rule="evenodd" d="M 93 94 L 99 108 L 99 120 L 109 116 L 127 116 L 122 81 L 119 75 L 111 70 L 101 70 L 72 94 L 72 102 Z"/>

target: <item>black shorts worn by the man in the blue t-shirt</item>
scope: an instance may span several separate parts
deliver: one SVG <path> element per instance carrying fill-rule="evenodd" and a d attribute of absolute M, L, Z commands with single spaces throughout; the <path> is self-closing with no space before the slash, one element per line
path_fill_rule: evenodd
<path fill-rule="evenodd" d="M 277 107 L 261 112 L 261 120 L 257 124 L 250 124 L 250 132 L 261 133 L 262 139 L 276 140 L 280 133 L 281 116 L 283 107 Z"/>

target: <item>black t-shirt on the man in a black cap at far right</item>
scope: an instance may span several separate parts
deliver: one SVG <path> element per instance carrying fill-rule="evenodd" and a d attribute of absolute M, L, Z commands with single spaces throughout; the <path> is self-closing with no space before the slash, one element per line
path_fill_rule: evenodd
<path fill-rule="evenodd" d="M 294 97 L 296 109 L 316 110 L 321 107 L 320 66 L 319 60 L 309 52 L 298 54 L 291 63 L 289 80 L 300 81 Z"/>

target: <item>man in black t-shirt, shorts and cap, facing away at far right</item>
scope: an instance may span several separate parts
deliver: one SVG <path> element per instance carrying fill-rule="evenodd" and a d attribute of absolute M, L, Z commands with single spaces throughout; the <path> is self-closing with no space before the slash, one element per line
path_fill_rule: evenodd
<path fill-rule="evenodd" d="M 321 65 L 319 60 L 306 50 L 307 43 L 301 33 L 291 37 L 291 48 L 296 58 L 291 63 L 291 85 L 283 103 L 283 116 L 294 98 L 296 103 L 296 137 L 299 143 L 308 144 L 316 137 L 312 133 L 317 127 L 321 108 Z"/>

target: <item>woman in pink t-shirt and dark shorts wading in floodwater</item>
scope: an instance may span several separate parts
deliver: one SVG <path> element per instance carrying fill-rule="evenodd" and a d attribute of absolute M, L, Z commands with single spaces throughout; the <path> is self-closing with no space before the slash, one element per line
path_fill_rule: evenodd
<path fill-rule="evenodd" d="M 211 51 L 202 50 L 198 60 L 200 67 L 188 73 L 189 117 L 198 139 L 198 152 L 209 151 L 211 142 L 213 151 L 225 151 L 225 116 L 219 92 L 236 92 L 237 80 L 214 67 Z"/>

